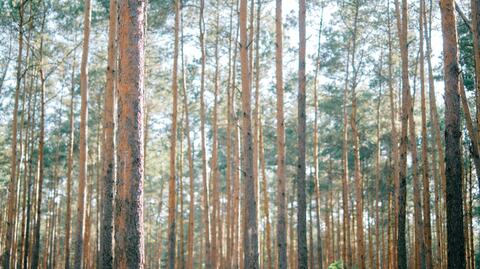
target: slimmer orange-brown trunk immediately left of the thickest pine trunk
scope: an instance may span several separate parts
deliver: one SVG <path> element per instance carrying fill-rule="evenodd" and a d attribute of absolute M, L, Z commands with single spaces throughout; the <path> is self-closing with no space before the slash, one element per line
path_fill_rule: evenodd
<path fill-rule="evenodd" d="M 117 61 L 117 1 L 110 0 L 108 25 L 107 85 L 105 87 L 102 135 L 102 217 L 100 268 L 113 268 L 113 195 L 115 186 L 115 73 Z"/>

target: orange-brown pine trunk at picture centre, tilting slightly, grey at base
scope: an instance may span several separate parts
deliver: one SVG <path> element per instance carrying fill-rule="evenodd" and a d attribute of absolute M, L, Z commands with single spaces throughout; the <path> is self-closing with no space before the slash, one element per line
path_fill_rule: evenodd
<path fill-rule="evenodd" d="M 248 40 L 247 40 L 247 0 L 240 0 L 240 59 L 242 71 L 242 160 L 244 184 L 245 230 L 243 248 L 246 268 L 258 268 L 257 201 L 255 179 L 253 177 L 253 141 L 251 118 L 251 91 L 249 80 Z"/>

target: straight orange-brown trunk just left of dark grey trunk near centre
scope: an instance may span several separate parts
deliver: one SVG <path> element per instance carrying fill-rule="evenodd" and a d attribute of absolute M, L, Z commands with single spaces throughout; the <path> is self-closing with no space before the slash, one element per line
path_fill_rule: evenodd
<path fill-rule="evenodd" d="M 283 116 L 283 33 L 282 0 L 275 8 L 275 81 L 277 92 L 277 245 L 278 268 L 287 268 L 287 202 L 285 177 L 285 120 Z M 318 203 L 317 203 L 318 207 Z M 318 216 L 318 210 L 317 210 Z M 317 231 L 319 232 L 319 231 Z"/>

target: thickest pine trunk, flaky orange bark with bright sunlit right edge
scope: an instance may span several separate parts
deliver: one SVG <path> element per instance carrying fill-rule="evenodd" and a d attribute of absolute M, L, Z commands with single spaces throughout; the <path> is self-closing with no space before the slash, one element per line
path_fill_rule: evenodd
<path fill-rule="evenodd" d="M 115 268 L 144 267 L 144 2 L 121 1 Z"/>

